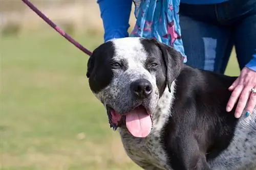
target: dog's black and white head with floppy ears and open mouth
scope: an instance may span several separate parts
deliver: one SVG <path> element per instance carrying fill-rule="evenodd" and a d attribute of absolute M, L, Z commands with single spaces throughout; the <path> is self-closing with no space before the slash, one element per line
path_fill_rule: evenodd
<path fill-rule="evenodd" d="M 87 77 L 110 126 L 126 126 L 132 135 L 145 137 L 159 99 L 166 88 L 170 92 L 182 65 L 180 53 L 155 39 L 121 38 L 94 50 Z"/>

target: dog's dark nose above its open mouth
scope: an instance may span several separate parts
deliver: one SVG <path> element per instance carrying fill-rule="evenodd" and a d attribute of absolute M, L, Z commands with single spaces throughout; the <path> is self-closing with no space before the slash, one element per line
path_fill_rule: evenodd
<path fill-rule="evenodd" d="M 146 79 L 136 80 L 131 84 L 131 89 L 138 98 L 147 98 L 152 93 L 152 85 Z"/>

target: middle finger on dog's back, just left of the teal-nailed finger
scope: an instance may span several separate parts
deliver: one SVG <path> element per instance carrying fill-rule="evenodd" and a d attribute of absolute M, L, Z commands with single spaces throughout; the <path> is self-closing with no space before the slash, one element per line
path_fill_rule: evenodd
<path fill-rule="evenodd" d="M 250 93 L 251 93 L 251 87 L 245 87 L 239 97 L 239 101 L 238 101 L 238 105 L 237 105 L 237 108 L 236 108 L 236 111 L 234 112 L 234 116 L 236 118 L 239 118 L 241 117 L 242 113 L 243 113 L 243 110 L 246 106 L 246 103 L 249 99 L 249 96 L 250 96 Z"/>

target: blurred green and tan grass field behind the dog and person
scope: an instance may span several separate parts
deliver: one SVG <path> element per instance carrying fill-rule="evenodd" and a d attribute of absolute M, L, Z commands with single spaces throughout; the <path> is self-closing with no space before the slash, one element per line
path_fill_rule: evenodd
<path fill-rule="evenodd" d="M 0 2 L 0 169 L 140 169 L 89 89 L 88 56 L 20 1 Z M 90 50 L 103 42 L 96 1 L 32 2 Z M 234 53 L 226 74 L 239 75 Z"/>

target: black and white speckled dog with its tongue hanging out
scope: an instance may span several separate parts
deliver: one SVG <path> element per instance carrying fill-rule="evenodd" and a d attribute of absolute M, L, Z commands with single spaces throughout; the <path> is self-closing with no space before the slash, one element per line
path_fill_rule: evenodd
<path fill-rule="evenodd" d="M 226 104 L 236 77 L 191 68 L 154 39 L 101 44 L 88 61 L 92 92 L 144 169 L 256 169 L 256 109 L 234 117 Z"/>

